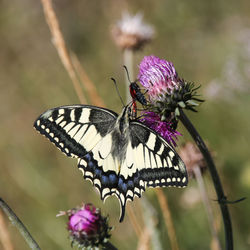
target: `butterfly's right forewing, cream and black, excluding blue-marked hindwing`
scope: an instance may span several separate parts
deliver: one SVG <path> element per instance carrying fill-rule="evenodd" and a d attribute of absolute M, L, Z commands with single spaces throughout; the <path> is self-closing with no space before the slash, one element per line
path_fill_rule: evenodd
<path fill-rule="evenodd" d="M 185 165 L 163 137 L 139 122 L 131 122 L 130 130 L 132 148 L 140 149 L 136 168 L 147 187 L 187 185 Z"/>

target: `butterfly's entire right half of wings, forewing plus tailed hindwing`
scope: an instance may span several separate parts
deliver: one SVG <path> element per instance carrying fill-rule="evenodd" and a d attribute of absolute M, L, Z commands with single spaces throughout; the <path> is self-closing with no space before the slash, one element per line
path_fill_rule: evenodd
<path fill-rule="evenodd" d="M 121 165 L 116 195 L 123 219 L 127 200 L 141 197 L 146 187 L 185 187 L 187 172 L 175 150 L 140 122 L 130 122 L 129 142 Z"/>

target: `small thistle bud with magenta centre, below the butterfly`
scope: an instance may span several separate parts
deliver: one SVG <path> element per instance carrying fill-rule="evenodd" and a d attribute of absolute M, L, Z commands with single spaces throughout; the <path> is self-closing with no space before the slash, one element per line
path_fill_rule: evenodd
<path fill-rule="evenodd" d="M 72 245 L 79 248 L 93 249 L 110 238 L 111 227 L 108 226 L 107 217 L 103 217 L 99 209 L 91 204 L 73 208 L 59 215 L 68 215 L 68 230 Z"/>

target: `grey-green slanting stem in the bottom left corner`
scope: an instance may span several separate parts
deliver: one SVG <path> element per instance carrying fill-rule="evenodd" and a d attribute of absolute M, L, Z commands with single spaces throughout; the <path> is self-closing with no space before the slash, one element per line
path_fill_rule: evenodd
<path fill-rule="evenodd" d="M 27 244 L 31 249 L 40 249 L 36 241 L 33 239 L 27 228 L 21 222 L 21 220 L 16 216 L 12 209 L 7 205 L 7 203 L 0 198 L 0 207 L 3 209 L 4 213 L 9 217 L 9 220 L 13 225 L 17 227 L 21 235 L 26 240 Z"/>

